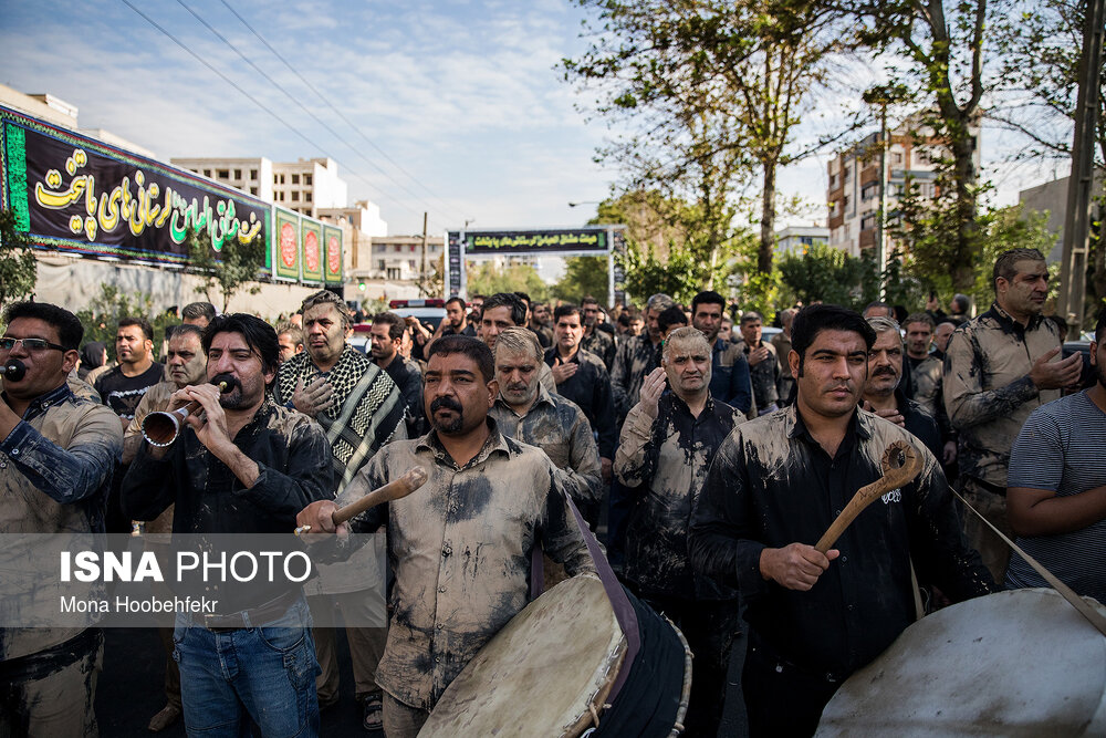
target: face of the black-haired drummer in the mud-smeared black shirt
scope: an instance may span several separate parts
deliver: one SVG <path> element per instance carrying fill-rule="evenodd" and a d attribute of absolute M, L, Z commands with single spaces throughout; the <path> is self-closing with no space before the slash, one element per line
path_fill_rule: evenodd
<path fill-rule="evenodd" d="M 868 373 L 868 347 L 859 333 L 821 331 L 807 346 L 802 367 L 794 351 L 787 358 L 804 414 L 830 418 L 853 412 Z"/>

